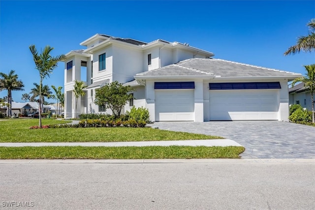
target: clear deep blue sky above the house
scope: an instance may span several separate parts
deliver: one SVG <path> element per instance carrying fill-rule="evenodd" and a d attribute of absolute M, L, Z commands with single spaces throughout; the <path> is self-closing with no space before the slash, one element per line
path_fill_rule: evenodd
<path fill-rule="evenodd" d="M 52 55 L 84 49 L 79 43 L 96 33 L 150 42 L 189 43 L 214 58 L 304 74 L 315 53 L 284 56 L 306 24 L 315 18 L 315 0 L 245 1 L 0 1 L 0 72 L 15 70 L 25 91 L 39 83 L 29 50 L 50 45 Z M 63 87 L 64 64 L 44 85 Z M 1 91 L 0 97 L 7 95 Z M 53 100 L 48 100 L 53 101 Z"/>

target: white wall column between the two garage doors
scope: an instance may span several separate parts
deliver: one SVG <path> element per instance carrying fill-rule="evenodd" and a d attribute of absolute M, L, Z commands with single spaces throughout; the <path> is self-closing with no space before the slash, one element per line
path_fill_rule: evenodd
<path fill-rule="evenodd" d="M 203 122 L 203 80 L 195 80 L 195 122 Z"/>

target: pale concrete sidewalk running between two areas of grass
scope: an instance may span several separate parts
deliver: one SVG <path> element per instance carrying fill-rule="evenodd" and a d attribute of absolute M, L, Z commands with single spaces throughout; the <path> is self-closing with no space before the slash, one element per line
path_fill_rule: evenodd
<path fill-rule="evenodd" d="M 181 140 L 181 141 L 142 141 L 142 142 L 39 142 L 39 143 L 0 143 L 0 147 L 44 147 L 44 146 L 83 146 L 83 147 L 143 147 L 143 146 L 206 146 L 243 147 L 230 139 Z"/>

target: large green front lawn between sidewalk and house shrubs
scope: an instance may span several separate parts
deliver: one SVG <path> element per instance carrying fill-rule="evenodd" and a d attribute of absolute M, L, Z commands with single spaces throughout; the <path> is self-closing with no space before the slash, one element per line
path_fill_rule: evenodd
<path fill-rule="evenodd" d="M 69 121 L 43 119 L 42 125 Z M 123 142 L 222 139 L 218 136 L 175 132 L 152 128 L 48 128 L 29 129 L 38 119 L 10 119 L 0 121 L 0 142 Z"/>

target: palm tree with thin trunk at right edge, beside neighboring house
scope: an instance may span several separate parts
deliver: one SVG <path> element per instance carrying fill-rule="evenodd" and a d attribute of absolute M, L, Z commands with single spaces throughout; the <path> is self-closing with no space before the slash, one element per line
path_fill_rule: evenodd
<path fill-rule="evenodd" d="M 306 77 L 298 77 L 293 80 L 292 87 L 294 87 L 295 83 L 303 82 L 304 87 L 306 87 L 311 92 L 311 100 L 312 100 L 312 122 L 315 123 L 314 117 L 314 92 L 315 92 L 315 64 L 312 65 L 305 65 L 304 66 L 307 74 Z"/>

